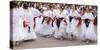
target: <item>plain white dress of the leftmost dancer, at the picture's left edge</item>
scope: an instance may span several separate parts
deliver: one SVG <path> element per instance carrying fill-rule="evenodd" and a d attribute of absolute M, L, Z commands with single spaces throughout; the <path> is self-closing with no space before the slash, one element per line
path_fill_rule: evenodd
<path fill-rule="evenodd" d="M 19 11 L 13 10 L 13 41 L 22 41 L 26 37 L 27 32 L 23 28 L 23 20 Z"/>

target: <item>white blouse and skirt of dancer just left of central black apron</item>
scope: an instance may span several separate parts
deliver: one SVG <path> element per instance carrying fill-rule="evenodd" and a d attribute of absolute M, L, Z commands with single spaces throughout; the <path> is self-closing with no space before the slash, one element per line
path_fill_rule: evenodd
<path fill-rule="evenodd" d="M 47 18 L 52 17 L 51 10 L 46 10 L 43 12 L 43 16 L 46 16 Z M 51 35 L 53 34 L 53 28 L 52 28 L 52 20 L 50 20 L 50 23 L 47 24 L 47 21 L 45 20 L 42 24 L 41 33 L 42 35 Z"/>

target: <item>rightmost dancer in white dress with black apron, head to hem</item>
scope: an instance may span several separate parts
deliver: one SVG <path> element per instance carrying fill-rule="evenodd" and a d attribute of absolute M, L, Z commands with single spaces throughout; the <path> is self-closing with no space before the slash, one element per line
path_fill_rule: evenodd
<path fill-rule="evenodd" d="M 85 8 L 85 14 L 82 16 L 82 26 L 80 39 L 86 43 L 94 42 L 96 40 L 96 33 L 94 32 L 94 17 L 89 11 L 89 6 Z"/>

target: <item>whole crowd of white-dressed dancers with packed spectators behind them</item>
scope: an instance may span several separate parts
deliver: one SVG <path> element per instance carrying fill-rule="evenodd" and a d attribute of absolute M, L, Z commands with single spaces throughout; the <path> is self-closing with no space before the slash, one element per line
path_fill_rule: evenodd
<path fill-rule="evenodd" d="M 42 2 L 10 2 L 11 41 L 54 37 L 86 43 L 97 40 L 97 6 Z"/>

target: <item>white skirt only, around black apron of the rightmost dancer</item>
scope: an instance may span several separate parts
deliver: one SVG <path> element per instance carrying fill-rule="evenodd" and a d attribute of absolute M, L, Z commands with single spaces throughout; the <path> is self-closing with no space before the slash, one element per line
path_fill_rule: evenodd
<path fill-rule="evenodd" d="M 80 38 L 81 40 L 86 40 L 86 39 L 96 40 L 97 39 L 96 33 L 94 32 L 93 22 L 90 22 L 88 28 L 86 28 L 85 23 L 82 22 Z"/>

